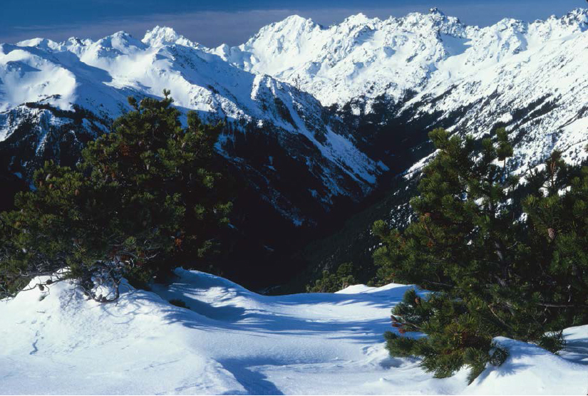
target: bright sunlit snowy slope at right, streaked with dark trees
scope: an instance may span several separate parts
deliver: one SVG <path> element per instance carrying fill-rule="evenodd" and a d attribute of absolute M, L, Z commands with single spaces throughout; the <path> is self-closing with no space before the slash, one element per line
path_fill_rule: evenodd
<path fill-rule="evenodd" d="M 470 43 L 471 49 L 448 58 L 406 106 L 418 103 L 422 113 L 438 113 L 440 120 L 461 110 L 450 130 L 475 137 L 504 125 L 515 142 L 510 164 L 515 173 L 555 149 L 568 162 L 585 160 L 588 10 L 532 24 L 505 19 L 480 29 Z"/>

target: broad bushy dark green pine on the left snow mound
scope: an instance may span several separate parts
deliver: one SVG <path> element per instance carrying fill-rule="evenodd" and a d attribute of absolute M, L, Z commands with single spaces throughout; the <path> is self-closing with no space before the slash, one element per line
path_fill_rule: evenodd
<path fill-rule="evenodd" d="M 191 112 L 182 127 L 164 93 L 130 98 L 134 110 L 83 150 L 76 169 L 47 162 L 36 189 L 0 215 L 3 295 L 60 269 L 58 278 L 86 289 L 96 271 L 115 284 L 125 274 L 147 283 L 215 245 L 231 208 L 213 155 L 222 125 Z"/>

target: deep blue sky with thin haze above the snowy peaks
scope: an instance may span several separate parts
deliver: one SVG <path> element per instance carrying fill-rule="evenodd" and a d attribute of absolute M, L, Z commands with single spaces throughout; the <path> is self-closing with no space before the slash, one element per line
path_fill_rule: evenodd
<path fill-rule="evenodd" d="M 586 0 L 0 0 L 0 43 L 46 37 L 100 38 L 125 30 L 138 38 L 165 25 L 206 46 L 236 45 L 261 26 L 292 14 L 323 25 L 351 14 L 386 18 L 437 6 L 467 24 L 486 26 L 504 17 L 532 21 L 562 15 Z"/>

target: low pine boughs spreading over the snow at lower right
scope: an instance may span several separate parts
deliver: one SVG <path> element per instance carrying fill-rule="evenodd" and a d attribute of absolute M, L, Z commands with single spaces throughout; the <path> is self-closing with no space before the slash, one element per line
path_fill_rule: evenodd
<path fill-rule="evenodd" d="M 421 365 L 443 378 L 464 365 L 470 368 L 473 381 L 487 363 L 500 365 L 507 352 L 492 341 L 500 324 L 492 316 L 478 314 L 478 307 L 452 298 L 446 293 L 419 297 L 408 290 L 403 302 L 393 309 L 393 327 L 398 334 L 387 332 L 386 348 L 393 356 L 420 356 Z M 402 336 L 407 332 L 428 335 L 422 338 Z"/>

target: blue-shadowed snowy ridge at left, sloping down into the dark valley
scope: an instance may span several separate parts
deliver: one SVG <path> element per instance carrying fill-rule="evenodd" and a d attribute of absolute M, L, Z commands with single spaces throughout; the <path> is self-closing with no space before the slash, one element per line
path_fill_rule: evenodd
<path fill-rule="evenodd" d="M 31 136 L 27 147 L 45 153 L 43 135 L 63 134 L 63 128 L 48 131 L 36 118 L 38 108 L 44 109 L 46 117 L 53 113 L 53 120 L 48 121 L 52 125 L 66 124 L 58 114 L 61 110 L 83 110 L 96 119 L 92 131 L 96 136 L 108 130 L 111 120 L 130 110 L 129 95 L 160 97 L 163 89 L 170 89 L 181 110 L 197 110 L 210 122 L 232 123 L 233 133 L 244 133 L 245 126 L 253 125 L 273 134 L 272 138 L 306 168 L 309 177 L 320 181 L 322 188 L 315 189 L 318 192 L 313 199 L 326 208 L 335 196 L 357 200 L 373 189 L 385 168 L 356 147 L 345 125 L 326 113 L 318 100 L 268 75 L 234 68 L 205 49 L 160 26 L 148 31 L 142 41 L 120 31 L 98 41 L 70 38 L 55 43 L 36 38 L 16 45 L 1 44 L 0 142 L 33 125 L 35 131 L 27 132 Z M 78 129 L 83 128 L 74 129 L 79 134 Z M 235 155 L 237 149 L 232 145 L 234 136 L 222 137 L 218 150 L 229 161 L 251 167 L 247 159 Z M 310 152 L 304 148 L 307 146 L 312 147 Z M 11 160 L 13 172 L 31 173 L 26 169 L 31 158 L 19 156 L 24 155 L 19 152 Z M 267 152 L 267 156 L 276 154 Z M 252 172 L 269 180 L 267 169 L 253 167 Z M 271 185 L 258 188 L 270 191 L 264 199 L 285 216 L 294 218 L 294 213 L 300 212 L 296 202 L 280 204 L 272 199 Z M 306 220 L 304 215 L 300 218 L 299 222 Z"/>

